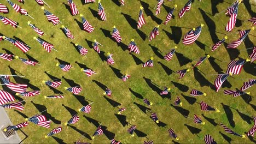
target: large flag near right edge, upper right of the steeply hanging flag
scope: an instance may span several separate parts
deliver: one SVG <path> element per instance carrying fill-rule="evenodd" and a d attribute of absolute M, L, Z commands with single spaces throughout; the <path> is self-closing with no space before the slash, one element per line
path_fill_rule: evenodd
<path fill-rule="evenodd" d="M 232 73 L 234 75 L 240 74 L 243 64 L 245 64 L 247 61 L 246 59 L 240 59 L 240 60 L 233 60 L 228 64 L 228 69 L 226 70 L 226 73 Z"/>

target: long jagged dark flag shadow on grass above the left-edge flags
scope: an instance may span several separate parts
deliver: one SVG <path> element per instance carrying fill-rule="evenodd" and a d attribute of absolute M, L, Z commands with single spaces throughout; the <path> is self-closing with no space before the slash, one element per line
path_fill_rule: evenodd
<path fill-rule="evenodd" d="M 14 70 L 13 68 L 11 68 L 10 67 L 10 65 L 8 65 L 8 67 L 9 67 L 9 69 L 10 69 L 10 72 L 11 72 L 11 75 L 18 75 L 18 74 L 16 74 L 16 72 L 17 73 L 19 73 L 18 71 L 16 71 L 16 70 Z M 20 74 L 20 73 L 19 73 Z M 21 74 L 22 75 L 22 74 Z M 18 77 L 18 76 L 13 76 L 13 79 L 17 82 L 17 83 L 25 83 L 25 84 L 27 84 L 27 87 L 30 87 L 31 89 L 33 89 L 34 91 L 36 91 L 36 90 L 38 90 L 38 91 L 40 91 L 40 88 L 39 87 L 36 87 L 36 86 L 34 86 L 34 85 L 32 85 L 31 83 L 30 83 L 30 80 L 28 80 L 28 79 L 24 79 L 24 78 L 22 78 L 22 77 Z"/>

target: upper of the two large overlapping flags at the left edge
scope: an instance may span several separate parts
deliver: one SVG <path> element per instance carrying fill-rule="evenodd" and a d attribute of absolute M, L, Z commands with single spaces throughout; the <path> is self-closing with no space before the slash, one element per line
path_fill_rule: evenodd
<path fill-rule="evenodd" d="M 10 82 L 9 80 L 9 76 L 0 76 L 0 78 L 2 79 L 2 81 L 4 82 L 4 84 L 11 89 L 11 91 L 14 92 L 18 92 L 18 93 L 22 93 L 22 92 L 26 92 L 27 90 L 27 85 L 22 85 L 22 84 L 18 84 L 18 83 L 13 83 Z"/>

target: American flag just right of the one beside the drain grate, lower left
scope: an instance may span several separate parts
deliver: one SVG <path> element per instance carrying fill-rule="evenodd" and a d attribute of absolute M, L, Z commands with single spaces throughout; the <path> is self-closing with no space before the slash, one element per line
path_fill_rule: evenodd
<path fill-rule="evenodd" d="M 28 118 L 27 121 L 30 121 L 34 124 L 40 125 L 44 128 L 50 128 L 51 121 L 47 121 L 46 117 L 44 115 L 36 115 L 31 118 Z"/>

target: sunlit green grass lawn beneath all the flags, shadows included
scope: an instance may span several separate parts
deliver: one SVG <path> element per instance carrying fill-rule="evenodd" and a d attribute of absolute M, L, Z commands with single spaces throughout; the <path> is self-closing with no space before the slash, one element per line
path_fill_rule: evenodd
<path fill-rule="evenodd" d="M 24 98 L 16 97 L 18 100 L 26 101 L 24 111 L 7 110 L 13 124 L 18 124 L 25 121 L 26 117 L 37 115 L 39 111 L 47 109 L 43 114 L 53 121 L 49 129 L 39 127 L 30 123 L 28 127 L 21 130 L 28 136 L 24 143 L 73 143 L 80 139 L 90 143 L 110 143 L 110 139 L 120 140 L 122 143 L 143 143 L 145 140 L 153 140 L 154 143 L 204 143 L 203 137 L 210 134 L 217 143 L 255 143 L 247 136 L 241 137 L 225 133 L 219 123 L 224 123 L 226 126 L 234 130 L 238 134 L 245 134 L 253 125 L 252 116 L 255 116 L 255 87 L 249 88 L 249 95 L 242 95 L 233 98 L 231 95 L 224 95 L 224 89 L 240 88 L 244 81 L 241 79 L 255 79 L 255 62 L 246 63 L 240 75 L 228 77 L 228 81 L 224 82 L 223 88 L 218 93 L 215 92 L 214 80 L 217 75 L 209 76 L 205 74 L 225 73 L 226 65 L 230 60 L 240 58 L 248 58 L 251 50 L 246 48 L 256 44 L 256 32 L 251 31 L 245 42 L 238 46 L 238 49 L 228 50 L 222 45 L 216 51 L 211 52 L 211 46 L 219 39 L 223 39 L 228 34 L 226 43 L 230 43 L 239 38 L 238 31 L 250 29 L 251 22 L 246 20 L 252 16 L 255 17 L 256 3 L 253 1 L 245 1 L 238 8 L 237 23 L 235 29 L 229 34 L 225 31 L 226 23 L 229 17 L 224 13 L 213 17 L 218 11 L 222 11 L 231 5 L 234 0 L 225 1 L 194 1 L 191 10 L 185 13 L 182 19 L 178 17 L 178 11 L 184 6 L 187 1 L 165 1 L 161 7 L 161 13 L 155 16 L 154 6 L 156 1 L 137 1 L 125 0 L 125 5 L 119 7 L 117 0 L 102 0 L 107 20 L 98 20 L 97 3 L 82 4 L 80 0 L 73 0 L 77 5 L 80 14 L 84 14 L 92 26 L 95 27 L 94 32 L 87 33 L 82 31 L 78 25 L 81 22 L 79 15 L 72 16 L 67 6 L 67 1 L 63 0 L 46 0 L 51 8 L 45 6 L 45 9 L 51 11 L 54 15 L 60 18 L 63 25 L 69 28 L 75 39 L 66 38 L 62 32 L 61 24 L 53 26 L 48 22 L 46 16 L 40 6 L 35 1 L 26 1 L 21 4 L 18 1 L 13 2 L 21 5 L 28 13 L 34 17 L 20 15 L 10 7 L 7 1 L 1 1 L 9 8 L 9 14 L 1 14 L 9 17 L 12 20 L 18 21 L 20 28 L 5 26 L 1 22 L 0 33 L 7 37 L 16 37 L 31 46 L 31 50 L 26 54 L 22 53 L 17 47 L 11 45 L 8 41 L 1 41 L 1 51 L 3 53 L 12 52 L 22 58 L 33 58 L 39 61 L 40 65 L 31 66 L 25 65 L 21 61 L 14 59 L 13 62 L 0 59 L 2 66 L 1 74 L 25 75 L 26 77 L 11 77 L 11 81 L 17 83 L 29 83 L 28 90 L 40 89 L 40 95 L 36 97 Z M 63 4 L 65 3 L 65 4 Z M 251 3 L 251 4 L 250 4 Z M 174 19 L 165 26 L 161 24 L 165 21 L 165 17 L 173 5 L 178 7 L 174 11 Z M 136 21 L 138 19 L 139 7 L 144 7 L 144 17 L 147 22 L 141 29 L 136 29 Z M 67 9 L 68 8 L 68 9 Z M 254 11 L 253 11 L 254 10 Z M 31 21 L 40 28 L 46 35 L 43 39 L 54 44 L 55 49 L 59 52 L 46 52 L 39 43 L 33 39 L 38 37 L 36 32 L 27 25 L 27 21 Z M 79 21 L 79 22 L 77 22 Z M 184 46 L 182 38 L 191 28 L 199 26 L 203 23 L 200 37 L 196 43 Z M 148 35 L 154 26 L 160 24 L 159 35 L 156 39 L 149 42 Z M 111 38 L 113 26 L 119 29 L 120 35 L 123 38 L 122 44 L 117 44 Z M 114 65 L 111 67 L 107 64 L 106 59 L 101 59 L 97 52 L 92 49 L 91 41 L 97 39 L 100 46 L 101 57 L 106 58 L 107 52 L 113 53 Z M 130 54 L 127 49 L 130 40 L 135 39 L 141 53 Z M 73 43 L 73 44 L 72 44 Z M 74 43 L 78 43 L 88 49 L 87 58 L 81 56 L 74 47 Z M 176 53 L 171 61 L 165 61 L 163 56 L 173 48 L 178 46 Z M 6 49 L 2 50 L 2 48 Z M 211 55 L 209 59 L 203 62 L 199 67 L 189 71 L 181 80 L 178 80 L 178 75 L 174 72 L 177 70 L 192 68 L 199 57 L 205 54 Z M 153 68 L 142 68 L 142 64 L 150 57 L 154 57 Z M 55 64 L 60 61 L 71 63 L 74 68 L 68 72 L 63 72 Z M 78 64 L 79 63 L 79 64 Z M 10 65 L 10 67 L 8 67 Z M 82 71 L 82 68 L 88 67 L 96 71 L 96 75 L 87 77 Z M 45 73 L 46 71 L 46 73 Z M 131 79 L 123 82 L 119 75 L 130 74 Z M 62 85 L 56 90 L 51 90 L 48 86 L 42 83 L 43 80 L 49 80 L 52 77 L 57 77 L 62 80 Z M 146 77 L 146 79 L 143 79 Z M 149 81 L 156 83 L 154 86 Z M 96 82 L 97 81 L 97 82 Z M 112 98 L 103 97 L 102 85 L 112 89 Z M 65 91 L 64 87 L 80 85 L 83 91 L 79 95 L 72 95 Z M 162 98 L 158 94 L 164 86 L 171 88 L 171 97 Z M 207 93 L 206 97 L 191 97 L 189 95 L 191 89 L 198 89 Z M 3 86 L 5 91 L 10 90 Z M 11 92 L 14 94 L 13 92 Z M 64 99 L 44 99 L 44 95 L 54 95 L 54 93 L 63 93 Z M 181 97 L 183 103 L 181 106 L 171 106 L 173 101 Z M 159 121 L 165 123 L 165 127 L 159 127 L 150 118 L 150 112 L 145 110 L 143 98 L 147 98 L 153 102 L 151 107 L 148 107 L 152 112 L 157 113 Z M 249 100 L 248 100 L 249 98 Z M 201 111 L 200 101 L 203 100 L 212 107 L 220 110 L 217 112 Z M 89 114 L 78 113 L 80 120 L 78 123 L 67 127 L 64 125 L 71 117 L 71 113 L 77 111 L 80 107 L 91 103 L 92 110 Z M 248 103 L 246 103 L 248 102 Z M 223 105 L 221 104 L 223 103 Z M 123 112 L 123 117 L 116 116 L 118 107 L 126 107 Z M 205 125 L 193 123 L 194 114 L 200 116 Z M 203 115 L 203 116 L 202 116 Z M 126 118 L 129 124 L 122 125 L 118 118 Z M 123 122 L 123 120 L 121 120 Z M 98 124 L 104 126 L 104 134 L 96 136 L 91 140 L 90 136 L 94 134 Z M 134 137 L 127 133 L 130 124 L 135 124 L 137 130 Z M 62 126 L 61 133 L 45 139 L 51 129 Z M 168 136 L 168 129 L 173 128 L 179 137 L 179 141 Z M 25 135 L 18 130 L 21 139 Z M 84 136 L 83 136 L 84 135 Z"/>

